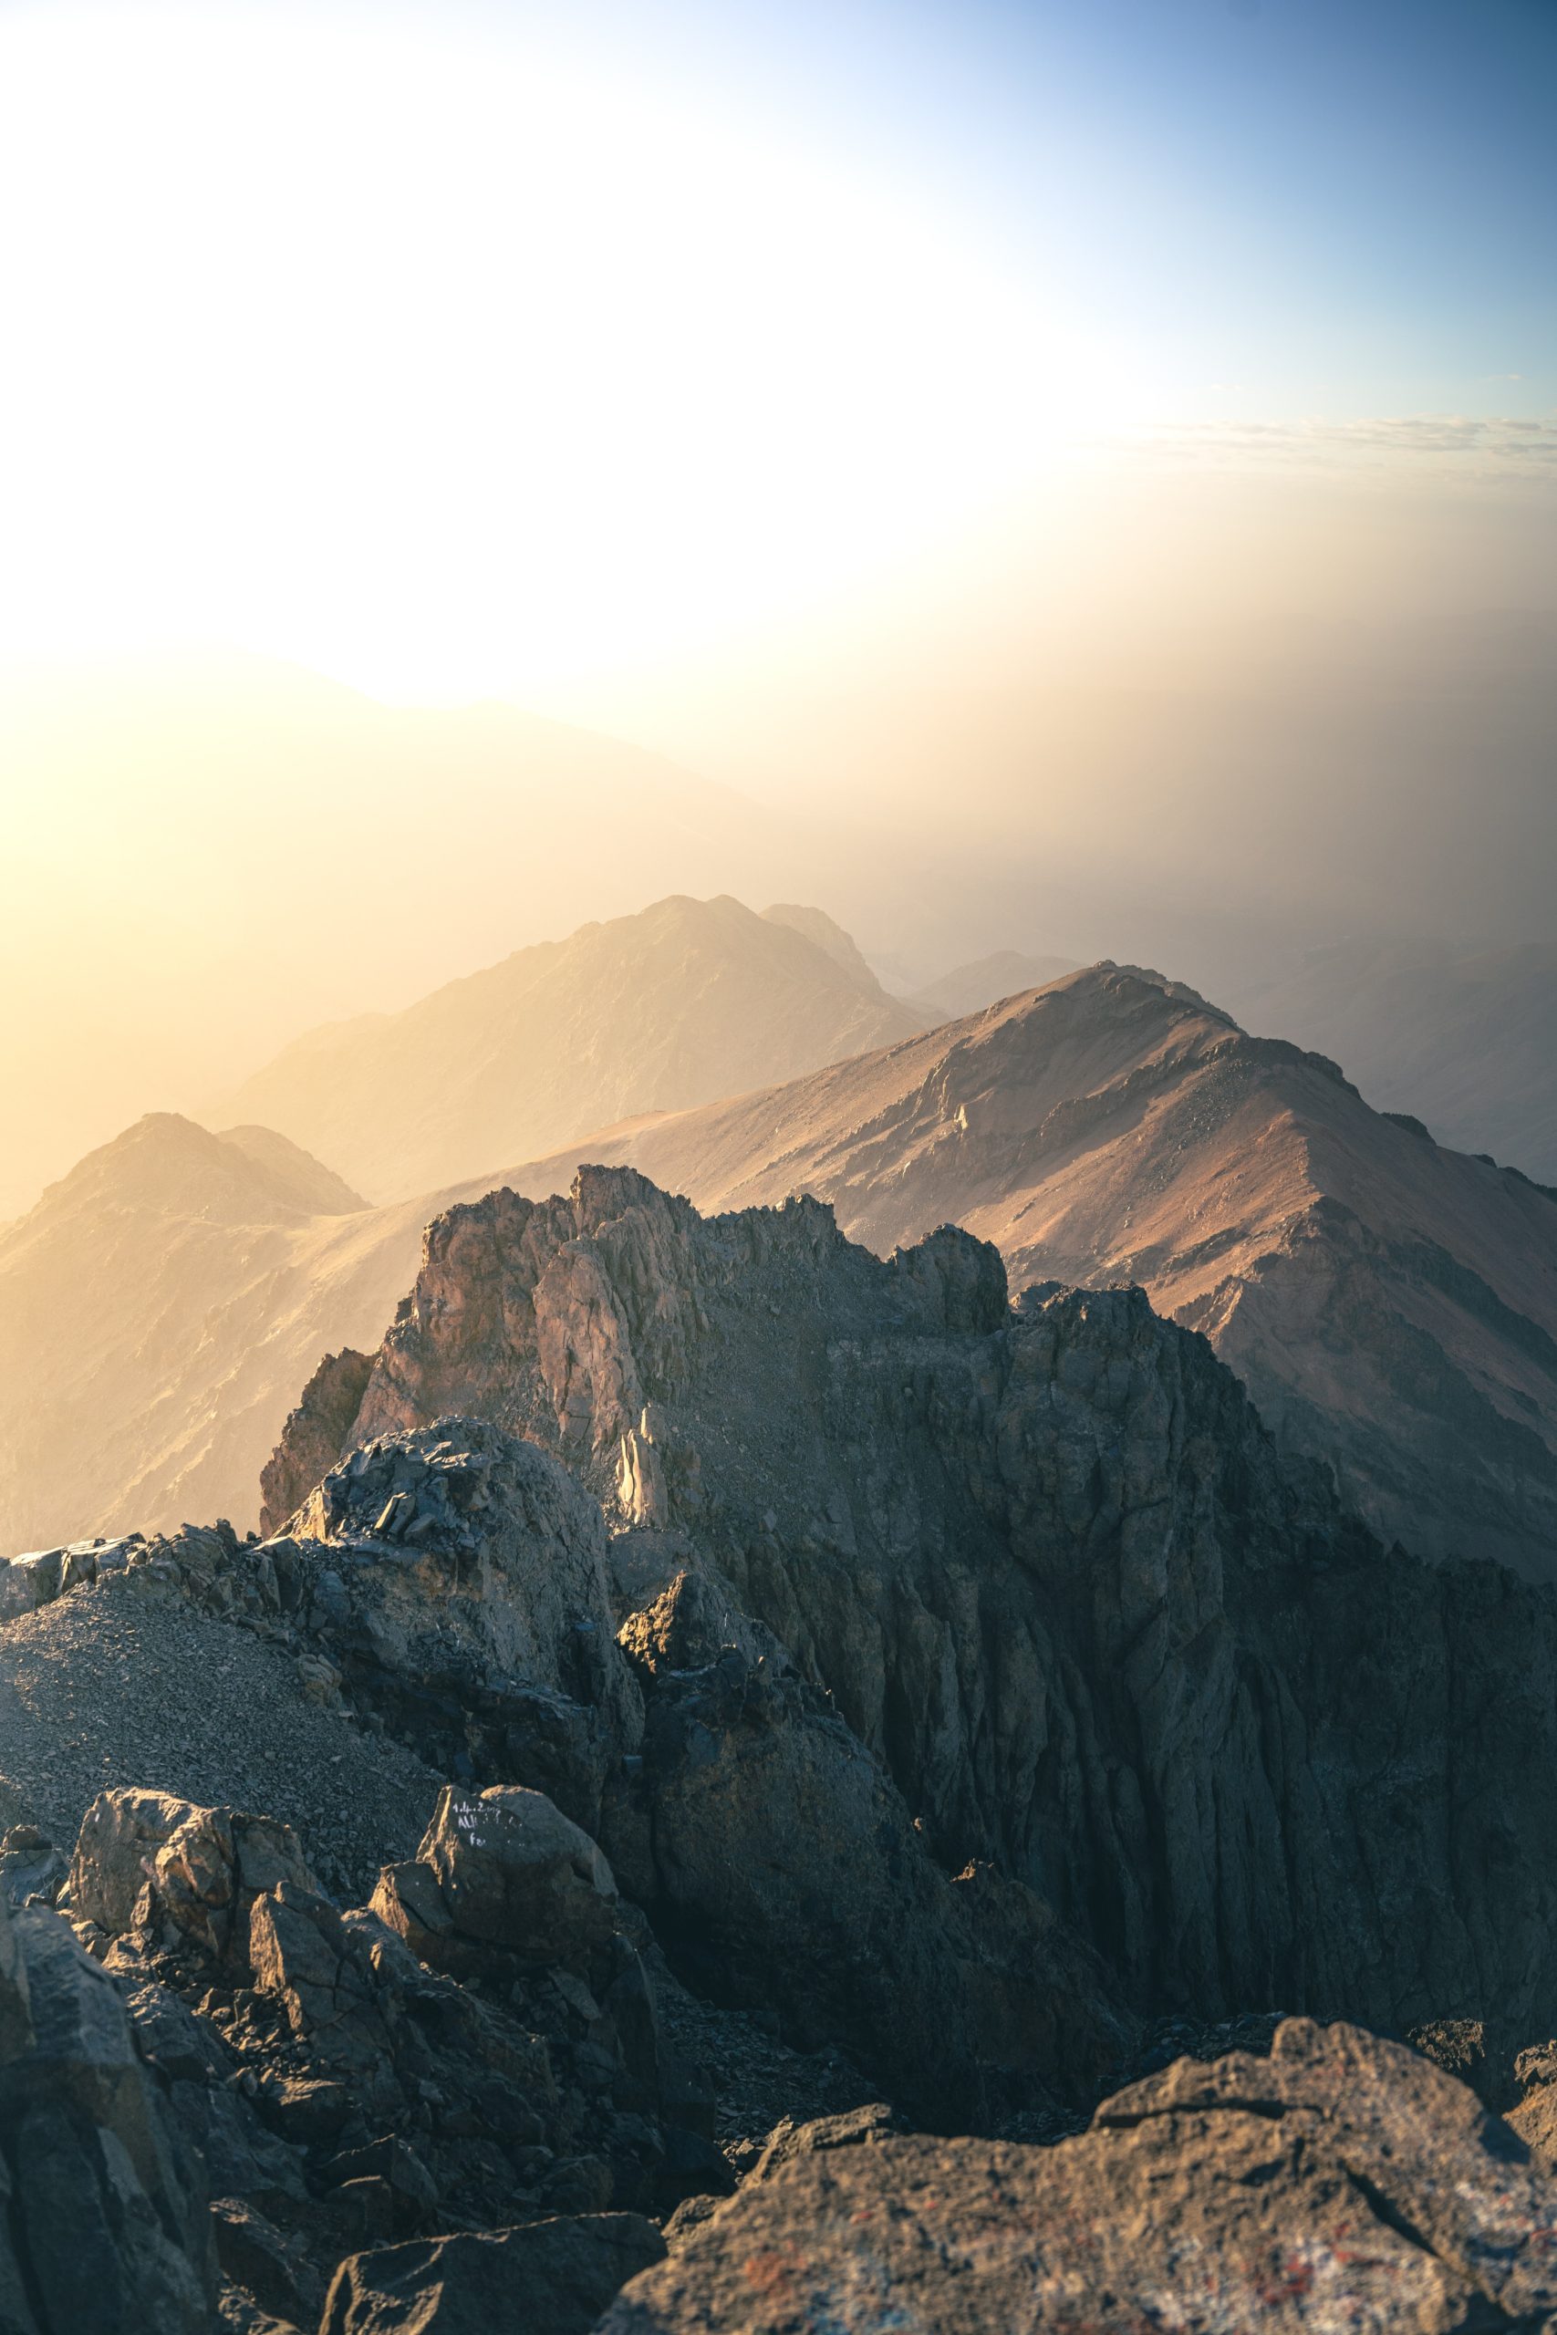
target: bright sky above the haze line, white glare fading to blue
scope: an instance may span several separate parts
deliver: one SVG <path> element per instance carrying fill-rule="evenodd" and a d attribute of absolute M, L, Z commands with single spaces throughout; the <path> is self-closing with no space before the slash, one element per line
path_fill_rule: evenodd
<path fill-rule="evenodd" d="M 1555 86 L 1550 0 L 0 0 L 0 642 L 630 712 L 1120 493 L 1205 565 L 1186 476 L 1545 497 Z"/>

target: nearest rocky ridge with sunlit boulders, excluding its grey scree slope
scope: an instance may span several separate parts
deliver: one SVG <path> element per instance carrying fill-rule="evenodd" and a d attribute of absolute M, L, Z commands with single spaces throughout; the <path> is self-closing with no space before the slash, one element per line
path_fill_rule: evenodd
<path fill-rule="evenodd" d="M 936 1310 L 966 1296 L 938 1277 Z M 444 1420 L 357 1448 L 268 1543 L 131 1543 L 28 1583 L 35 1623 L 147 1576 L 133 1595 L 313 1646 L 359 1728 L 387 1712 L 472 1782 L 357 1905 L 289 1826 L 166 1791 L 100 1793 L 68 1870 L 7 1835 L 28 1905 L 0 1901 L 0 2148 L 30 2181 L 0 2323 L 626 2335 L 868 2302 L 950 2335 L 1022 2295 L 1062 2326 L 1543 2321 L 1555 2045 L 1522 2055 L 1501 2123 L 1356 2029 L 1144 2024 L 1032 1891 L 945 1873 L 880 1761 L 686 1555 L 663 1527 L 607 1536 L 553 1457 Z M 105 2092 L 72 2087 L 63 2045 L 37 2064 L 9 1924 L 33 2024 L 40 1971 L 93 2008 Z M 759 2015 L 796 2102 L 824 2036 L 857 2097 L 871 2069 L 887 2097 L 731 2130 L 714 2090 Z M 1473 2027 L 1424 2041 L 1506 2080 Z M 14 2102 L 70 2102 L 103 2162 L 133 2132 L 140 2193 L 65 2190 Z M 936 2137 L 992 2120 L 1011 2137 Z"/>

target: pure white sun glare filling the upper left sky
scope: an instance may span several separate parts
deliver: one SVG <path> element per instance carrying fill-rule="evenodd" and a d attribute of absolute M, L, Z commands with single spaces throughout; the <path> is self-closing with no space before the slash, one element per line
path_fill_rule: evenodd
<path fill-rule="evenodd" d="M 390 693 L 654 658 L 887 570 L 1095 423 L 894 187 L 493 44 L 0 26 L 12 644 Z"/>

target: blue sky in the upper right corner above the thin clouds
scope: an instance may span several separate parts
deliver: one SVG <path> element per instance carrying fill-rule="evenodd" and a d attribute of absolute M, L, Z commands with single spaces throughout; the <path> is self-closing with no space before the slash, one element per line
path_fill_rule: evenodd
<path fill-rule="evenodd" d="M 724 89 L 913 182 L 1186 392 L 1335 418 L 1557 399 L 1552 0 L 726 0 L 572 23 L 616 70 Z"/>

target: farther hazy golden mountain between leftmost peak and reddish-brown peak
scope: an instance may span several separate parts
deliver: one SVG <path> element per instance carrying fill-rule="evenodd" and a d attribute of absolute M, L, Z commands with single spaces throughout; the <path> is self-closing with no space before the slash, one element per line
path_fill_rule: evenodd
<path fill-rule="evenodd" d="M 315 1030 L 247 1079 L 231 1114 L 282 1128 L 376 1200 L 432 1191 L 922 1027 L 840 941 L 852 950 L 819 911 L 663 899 L 404 1013 Z"/>

